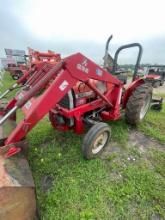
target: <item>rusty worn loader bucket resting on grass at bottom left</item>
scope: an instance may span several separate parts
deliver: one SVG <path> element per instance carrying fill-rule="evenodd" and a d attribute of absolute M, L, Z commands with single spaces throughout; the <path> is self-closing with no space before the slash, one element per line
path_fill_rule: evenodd
<path fill-rule="evenodd" d="M 15 128 L 15 121 L 0 126 L 0 219 L 33 220 L 36 214 L 35 185 L 28 161 L 21 154 L 6 158 L 11 146 L 3 146 L 7 135 Z M 27 147 L 27 141 L 17 144 Z"/>

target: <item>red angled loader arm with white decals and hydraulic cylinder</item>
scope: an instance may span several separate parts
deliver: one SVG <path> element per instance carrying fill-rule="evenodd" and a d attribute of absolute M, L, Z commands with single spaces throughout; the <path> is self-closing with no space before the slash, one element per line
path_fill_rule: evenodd
<path fill-rule="evenodd" d="M 109 92 L 101 94 L 95 86 L 90 84 L 89 79 L 113 84 L 115 94 L 120 96 L 116 99 L 115 104 Z M 78 81 L 86 83 L 94 90 L 102 103 L 119 111 L 122 82 L 82 54 L 77 53 L 55 65 L 29 90 L 22 90 L 16 97 L 17 101 L 14 107 L 2 117 L 0 125 L 19 108 L 22 109 L 25 118 L 19 122 L 13 132 L 7 137 L 5 146 L 14 146 L 15 143 L 21 141 Z M 43 93 L 36 96 L 43 88 Z"/>

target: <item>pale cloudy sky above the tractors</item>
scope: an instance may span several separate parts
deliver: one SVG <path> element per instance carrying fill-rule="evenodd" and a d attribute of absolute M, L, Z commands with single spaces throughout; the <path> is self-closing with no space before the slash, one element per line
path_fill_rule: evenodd
<path fill-rule="evenodd" d="M 48 49 L 62 57 L 81 52 L 102 64 L 127 43 L 143 46 L 143 63 L 165 63 L 164 0 L 0 0 L 0 57 L 4 48 Z M 136 49 L 121 54 L 134 63 Z"/>

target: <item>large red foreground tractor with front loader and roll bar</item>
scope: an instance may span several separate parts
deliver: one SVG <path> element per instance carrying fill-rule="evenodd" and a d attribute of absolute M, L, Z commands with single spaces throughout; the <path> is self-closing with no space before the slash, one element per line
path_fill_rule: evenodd
<path fill-rule="evenodd" d="M 139 53 L 133 81 L 126 88 L 120 80 L 122 71 L 117 70 L 117 60 L 121 50 L 131 47 L 137 47 Z M 104 121 L 120 119 L 123 109 L 127 122 L 136 125 L 150 107 L 152 86 L 144 79 L 136 79 L 141 55 L 141 45 L 134 43 L 117 50 L 109 71 L 77 53 L 51 67 L 44 66 L 41 75 L 40 70 L 34 72 L 16 96 L 1 106 L 0 150 L 6 157 L 20 152 L 27 133 L 48 114 L 57 130 L 81 134 L 86 125 L 91 126 L 83 140 L 83 156 L 91 159 L 99 155 L 111 137 L 111 129 Z M 25 117 L 13 128 L 18 109 L 22 109 Z M 6 123 L 12 125 L 7 135 L 3 132 Z"/>

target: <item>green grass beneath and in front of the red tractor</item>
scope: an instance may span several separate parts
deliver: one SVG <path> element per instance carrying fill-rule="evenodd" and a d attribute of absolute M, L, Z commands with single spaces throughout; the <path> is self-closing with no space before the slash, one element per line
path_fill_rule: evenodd
<path fill-rule="evenodd" d="M 163 142 L 164 118 L 164 110 L 150 111 L 138 129 Z M 124 119 L 109 124 L 121 151 L 90 161 L 81 153 L 83 135 L 55 131 L 47 117 L 29 133 L 41 219 L 165 219 L 164 151 L 127 146 L 132 128 Z"/>

